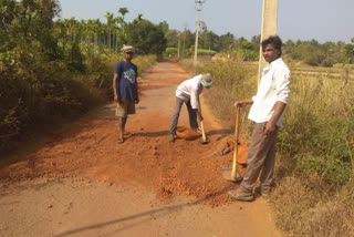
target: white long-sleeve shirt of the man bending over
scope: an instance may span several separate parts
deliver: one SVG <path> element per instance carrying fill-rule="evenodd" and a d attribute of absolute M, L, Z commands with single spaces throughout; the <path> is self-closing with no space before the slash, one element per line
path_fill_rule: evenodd
<path fill-rule="evenodd" d="M 202 92 L 201 74 L 184 81 L 176 90 L 176 96 L 188 102 L 192 109 L 198 109 L 199 94 Z"/>

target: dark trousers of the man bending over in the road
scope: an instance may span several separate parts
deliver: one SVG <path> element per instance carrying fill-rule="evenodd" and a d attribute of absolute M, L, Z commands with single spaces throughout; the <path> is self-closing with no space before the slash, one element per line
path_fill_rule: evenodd
<path fill-rule="evenodd" d="M 176 105 L 175 105 L 174 115 L 170 122 L 169 134 L 176 133 L 180 109 L 184 103 L 186 103 L 188 109 L 190 127 L 198 128 L 197 113 L 191 109 L 190 101 L 185 102 L 184 100 L 176 97 Z"/>

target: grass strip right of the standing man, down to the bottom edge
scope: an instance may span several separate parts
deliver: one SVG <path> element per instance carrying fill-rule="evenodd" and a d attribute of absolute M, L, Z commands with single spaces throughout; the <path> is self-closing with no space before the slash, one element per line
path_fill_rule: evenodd
<path fill-rule="evenodd" d="M 290 236 L 351 236 L 353 82 L 294 76 L 291 86 L 271 202 L 278 226 Z"/>

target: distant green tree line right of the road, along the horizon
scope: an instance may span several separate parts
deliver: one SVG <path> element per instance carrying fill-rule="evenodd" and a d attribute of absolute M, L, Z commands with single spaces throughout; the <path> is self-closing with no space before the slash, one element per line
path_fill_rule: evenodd
<path fill-rule="evenodd" d="M 209 31 L 204 22 L 200 29 L 199 49 L 212 50 L 223 54 L 241 54 L 246 61 L 259 60 L 260 35 L 254 35 L 251 40 L 242 37 L 236 38 L 232 33 L 217 35 L 212 31 Z M 168 30 L 165 37 L 167 39 L 167 47 L 174 48 L 178 52 L 178 59 L 186 59 L 192 55 L 195 33 L 188 29 L 184 31 Z M 339 63 L 354 63 L 354 38 L 352 39 L 352 43 L 341 41 L 319 43 L 316 40 L 288 40 L 283 43 L 283 58 L 291 61 L 326 68 Z"/>

